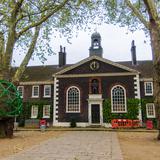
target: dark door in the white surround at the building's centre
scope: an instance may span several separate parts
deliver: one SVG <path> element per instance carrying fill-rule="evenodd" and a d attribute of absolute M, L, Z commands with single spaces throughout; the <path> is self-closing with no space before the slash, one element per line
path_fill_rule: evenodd
<path fill-rule="evenodd" d="M 100 108 L 99 104 L 92 104 L 91 106 L 92 123 L 100 123 Z"/>

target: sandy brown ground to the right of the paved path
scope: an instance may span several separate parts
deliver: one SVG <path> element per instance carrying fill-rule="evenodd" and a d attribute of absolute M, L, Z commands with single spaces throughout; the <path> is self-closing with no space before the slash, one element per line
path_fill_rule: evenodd
<path fill-rule="evenodd" d="M 160 160 L 157 133 L 119 132 L 118 138 L 124 160 Z"/>

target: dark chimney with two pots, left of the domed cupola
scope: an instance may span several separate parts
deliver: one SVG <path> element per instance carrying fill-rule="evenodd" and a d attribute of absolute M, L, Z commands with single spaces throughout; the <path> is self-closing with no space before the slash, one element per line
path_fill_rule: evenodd
<path fill-rule="evenodd" d="M 60 51 L 59 51 L 59 67 L 63 67 L 66 65 L 66 48 L 60 46 Z"/>

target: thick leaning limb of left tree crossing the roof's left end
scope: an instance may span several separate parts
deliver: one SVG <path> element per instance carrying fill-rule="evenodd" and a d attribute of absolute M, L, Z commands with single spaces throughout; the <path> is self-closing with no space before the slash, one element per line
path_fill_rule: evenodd
<path fill-rule="evenodd" d="M 38 36 L 39 36 L 39 31 L 40 31 L 40 26 L 37 26 L 36 29 L 35 29 L 34 36 L 32 38 L 32 42 L 29 46 L 28 52 L 25 55 L 21 65 L 18 67 L 18 69 L 16 70 L 16 73 L 14 74 L 14 76 L 12 78 L 13 82 L 18 82 L 20 80 L 22 74 L 24 73 L 24 71 L 26 69 L 26 66 L 28 65 L 28 62 L 29 62 L 29 60 L 32 57 L 32 54 L 34 52 L 34 48 L 36 46 L 36 42 L 37 42 L 37 39 L 38 39 Z"/>

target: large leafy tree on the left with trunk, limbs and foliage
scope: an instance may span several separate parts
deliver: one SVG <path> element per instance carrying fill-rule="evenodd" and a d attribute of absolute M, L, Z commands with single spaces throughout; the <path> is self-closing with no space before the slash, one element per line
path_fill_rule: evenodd
<path fill-rule="evenodd" d="M 74 25 L 81 27 L 88 22 L 87 15 L 92 15 L 89 8 L 93 5 L 87 0 L 1 0 L 0 80 L 18 83 L 35 50 L 41 60 L 45 53 L 52 53 L 50 33 L 56 28 L 69 32 Z M 11 64 L 16 48 L 21 48 L 25 56 L 13 74 Z"/>

